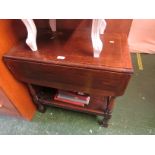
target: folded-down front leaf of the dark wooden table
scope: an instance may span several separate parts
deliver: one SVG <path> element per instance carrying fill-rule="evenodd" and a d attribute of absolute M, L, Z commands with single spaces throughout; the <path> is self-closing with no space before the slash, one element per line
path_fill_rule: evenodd
<path fill-rule="evenodd" d="M 58 89 L 119 96 L 130 79 L 130 74 L 126 73 L 12 59 L 5 61 L 18 80 Z"/>

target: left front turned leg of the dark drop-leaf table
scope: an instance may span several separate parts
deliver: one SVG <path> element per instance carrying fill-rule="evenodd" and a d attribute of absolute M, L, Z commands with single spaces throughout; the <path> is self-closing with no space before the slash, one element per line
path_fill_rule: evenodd
<path fill-rule="evenodd" d="M 27 84 L 28 85 L 28 88 L 29 88 L 29 91 L 30 91 L 30 94 L 32 96 L 32 100 L 33 102 L 35 103 L 36 107 L 37 107 L 37 110 L 41 113 L 44 113 L 46 111 L 46 106 L 43 105 L 39 99 L 38 99 L 38 96 L 36 95 L 36 92 L 35 90 L 33 89 L 33 86 L 31 84 Z"/>

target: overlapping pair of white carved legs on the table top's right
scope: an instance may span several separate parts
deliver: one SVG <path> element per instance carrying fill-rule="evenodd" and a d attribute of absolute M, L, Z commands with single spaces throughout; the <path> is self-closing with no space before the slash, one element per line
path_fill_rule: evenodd
<path fill-rule="evenodd" d="M 95 58 L 98 58 L 102 51 L 103 43 L 100 39 L 100 34 L 104 33 L 105 28 L 106 28 L 106 21 L 104 19 L 93 19 L 91 39 Z"/>

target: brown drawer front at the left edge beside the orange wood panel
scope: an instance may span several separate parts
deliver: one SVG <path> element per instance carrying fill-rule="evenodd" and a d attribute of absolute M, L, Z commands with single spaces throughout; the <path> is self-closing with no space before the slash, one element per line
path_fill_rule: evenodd
<path fill-rule="evenodd" d="M 20 116 L 4 91 L 0 88 L 0 114 Z"/>

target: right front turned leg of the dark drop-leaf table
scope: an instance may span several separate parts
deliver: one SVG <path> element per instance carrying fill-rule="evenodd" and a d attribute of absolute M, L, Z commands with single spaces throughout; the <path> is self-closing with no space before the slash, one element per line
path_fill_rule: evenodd
<path fill-rule="evenodd" d="M 102 127 L 108 127 L 108 122 L 110 120 L 110 118 L 112 117 L 112 109 L 114 106 L 114 100 L 115 100 L 115 96 L 112 97 L 108 97 L 107 98 L 107 103 L 105 105 L 105 109 L 104 109 L 104 118 L 102 121 L 99 121 L 99 124 Z"/>

